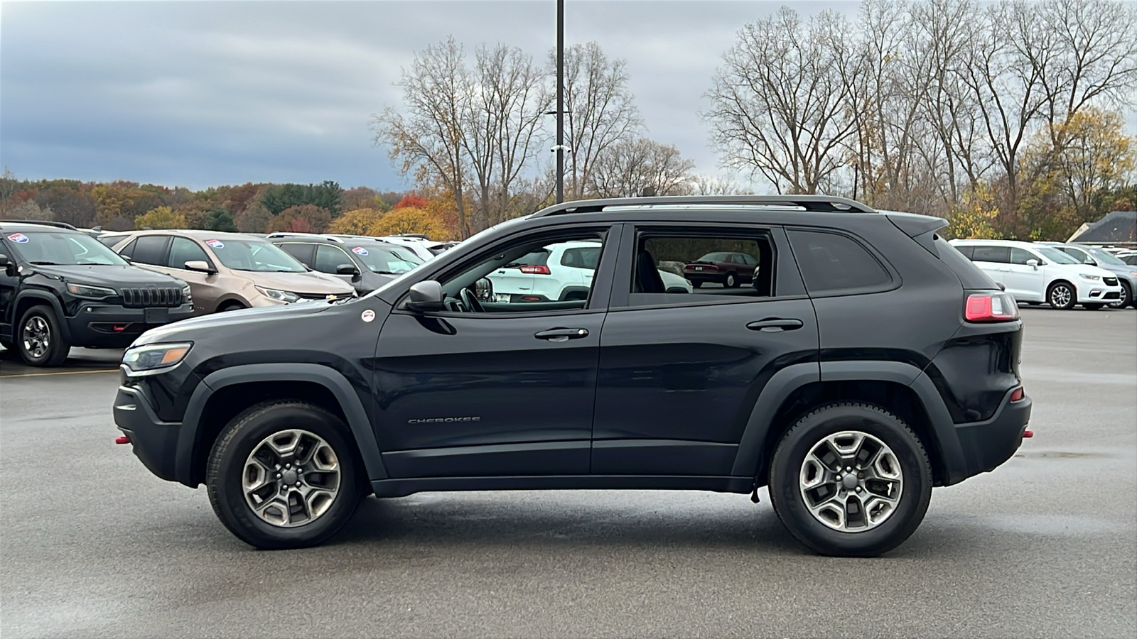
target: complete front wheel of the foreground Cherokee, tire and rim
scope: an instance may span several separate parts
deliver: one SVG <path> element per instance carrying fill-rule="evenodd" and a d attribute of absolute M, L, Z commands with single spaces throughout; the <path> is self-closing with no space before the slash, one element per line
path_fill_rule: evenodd
<path fill-rule="evenodd" d="M 347 432 L 339 417 L 309 404 L 241 413 L 209 454 L 206 484 L 217 517 L 257 548 L 304 548 L 335 534 L 362 495 Z"/>

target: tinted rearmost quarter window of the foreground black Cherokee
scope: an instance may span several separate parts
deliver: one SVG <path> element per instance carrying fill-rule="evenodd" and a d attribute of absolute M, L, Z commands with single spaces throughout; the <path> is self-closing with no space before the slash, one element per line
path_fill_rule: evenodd
<path fill-rule="evenodd" d="M 799 230 L 787 234 L 810 293 L 881 289 L 893 281 L 883 265 L 847 235 Z"/>

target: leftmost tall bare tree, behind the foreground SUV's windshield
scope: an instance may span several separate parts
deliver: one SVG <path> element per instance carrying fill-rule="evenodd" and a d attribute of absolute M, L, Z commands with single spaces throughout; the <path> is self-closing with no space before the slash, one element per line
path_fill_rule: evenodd
<path fill-rule="evenodd" d="M 415 55 L 397 84 L 402 88 L 404 116 L 392 107 L 372 116 L 376 146 L 387 144 L 404 175 L 420 182 L 439 180 L 456 202 L 463 236 L 473 232 L 465 209 L 468 161 L 463 130 L 471 99 L 465 53 L 454 38 Z"/>

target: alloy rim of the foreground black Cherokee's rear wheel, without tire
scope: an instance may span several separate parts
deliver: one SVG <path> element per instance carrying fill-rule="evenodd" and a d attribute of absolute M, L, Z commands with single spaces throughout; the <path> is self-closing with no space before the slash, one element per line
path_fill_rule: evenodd
<path fill-rule="evenodd" d="M 896 511 L 904 473 L 887 443 L 861 431 L 841 431 L 810 449 L 798 488 L 815 520 L 841 532 L 863 532 Z"/>

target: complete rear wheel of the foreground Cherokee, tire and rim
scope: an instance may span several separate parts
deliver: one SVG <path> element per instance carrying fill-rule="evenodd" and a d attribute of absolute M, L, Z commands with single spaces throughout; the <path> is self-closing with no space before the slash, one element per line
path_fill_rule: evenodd
<path fill-rule="evenodd" d="M 832 404 L 782 437 L 770 500 L 782 524 L 824 555 L 869 557 L 899 546 L 928 511 L 931 464 L 907 425 L 866 404 Z"/>

